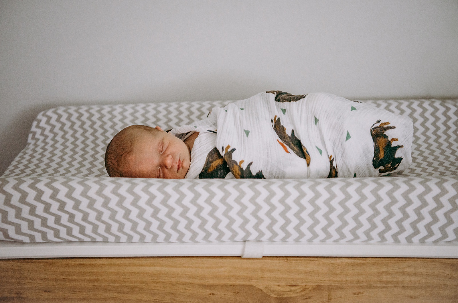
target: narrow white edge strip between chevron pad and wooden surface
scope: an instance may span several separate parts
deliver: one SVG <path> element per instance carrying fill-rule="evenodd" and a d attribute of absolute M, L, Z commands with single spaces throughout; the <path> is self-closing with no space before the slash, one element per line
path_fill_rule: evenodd
<path fill-rule="evenodd" d="M 248 242 L 248 245 L 254 242 Z M 256 242 L 262 256 L 458 258 L 458 242 L 329 243 Z M 247 245 L 247 246 L 248 246 Z M 0 241 L 0 259 L 78 257 L 243 256 L 245 242 L 113 243 Z"/>

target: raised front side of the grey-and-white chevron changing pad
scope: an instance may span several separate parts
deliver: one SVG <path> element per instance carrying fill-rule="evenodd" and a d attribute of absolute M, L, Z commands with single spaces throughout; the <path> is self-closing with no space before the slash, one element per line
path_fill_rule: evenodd
<path fill-rule="evenodd" d="M 0 182 L 0 240 L 415 243 L 458 238 L 454 177 Z"/>

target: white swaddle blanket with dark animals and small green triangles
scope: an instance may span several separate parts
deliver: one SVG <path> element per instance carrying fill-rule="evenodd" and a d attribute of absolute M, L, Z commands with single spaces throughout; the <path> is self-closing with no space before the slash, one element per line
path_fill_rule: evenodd
<path fill-rule="evenodd" d="M 411 164 L 408 117 L 332 94 L 263 92 L 172 133 L 191 130 L 216 134 L 199 178 L 375 177 Z"/>

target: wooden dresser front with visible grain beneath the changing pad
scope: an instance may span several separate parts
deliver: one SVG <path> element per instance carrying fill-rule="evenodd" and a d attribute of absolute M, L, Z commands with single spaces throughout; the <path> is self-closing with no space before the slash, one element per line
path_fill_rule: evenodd
<path fill-rule="evenodd" d="M 0 302 L 458 302 L 458 259 L 0 260 Z"/>

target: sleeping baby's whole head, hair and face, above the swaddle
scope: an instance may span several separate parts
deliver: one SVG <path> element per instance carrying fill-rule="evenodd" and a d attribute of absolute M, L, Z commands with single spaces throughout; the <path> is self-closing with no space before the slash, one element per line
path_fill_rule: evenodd
<path fill-rule="evenodd" d="M 111 177 L 183 179 L 191 150 L 160 127 L 132 125 L 107 146 L 105 168 Z"/>

